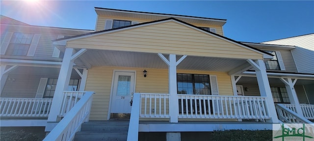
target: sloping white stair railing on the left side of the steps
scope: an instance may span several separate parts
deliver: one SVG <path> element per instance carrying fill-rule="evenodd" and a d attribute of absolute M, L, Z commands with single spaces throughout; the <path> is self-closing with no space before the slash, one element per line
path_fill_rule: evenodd
<path fill-rule="evenodd" d="M 43 141 L 72 141 L 83 122 L 88 121 L 94 92 L 84 92 L 80 100 Z"/>

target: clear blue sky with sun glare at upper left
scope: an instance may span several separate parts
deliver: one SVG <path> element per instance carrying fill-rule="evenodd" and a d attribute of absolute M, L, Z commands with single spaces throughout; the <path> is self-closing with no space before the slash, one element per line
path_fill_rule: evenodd
<path fill-rule="evenodd" d="M 314 0 L 1 0 L 0 14 L 31 25 L 94 29 L 94 7 L 226 19 L 224 34 L 260 43 L 314 33 Z"/>

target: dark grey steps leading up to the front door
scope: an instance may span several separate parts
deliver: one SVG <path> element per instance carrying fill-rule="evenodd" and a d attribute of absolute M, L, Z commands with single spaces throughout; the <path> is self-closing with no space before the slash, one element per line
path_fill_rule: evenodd
<path fill-rule="evenodd" d="M 130 120 L 89 121 L 81 126 L 74 141 L 127 141 Z"/>

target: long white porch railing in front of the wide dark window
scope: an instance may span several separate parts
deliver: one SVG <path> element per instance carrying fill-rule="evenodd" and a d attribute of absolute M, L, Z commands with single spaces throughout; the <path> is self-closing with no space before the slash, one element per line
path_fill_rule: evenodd
<path fill-rule="evenodd" d="M 267 119 L 266 97 L 178 94 L 179 118 Z"/>

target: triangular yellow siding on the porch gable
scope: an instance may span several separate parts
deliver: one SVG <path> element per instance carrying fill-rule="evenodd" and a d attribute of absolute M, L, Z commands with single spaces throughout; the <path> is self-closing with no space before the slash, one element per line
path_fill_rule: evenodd
<path fill-rule="evenodd" d="M 67 47 L 166 53 L 236 59 L 262 59 L 250 49 L 167 22 L 68 41 Z"/>

